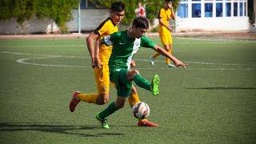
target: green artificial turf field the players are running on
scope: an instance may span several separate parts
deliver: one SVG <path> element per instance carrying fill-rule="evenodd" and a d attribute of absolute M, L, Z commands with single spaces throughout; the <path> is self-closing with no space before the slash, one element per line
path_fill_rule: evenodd
<path fill-rule="evenodd" d="M 127 102 L 102 130 L 94 116 L 108 105 L 69 110 L 73 91 L 96 91 L 84 39 L 1 39 L 0 143 L 256 142 L 256 41 L 174 38 L 186 70 L 166 68 L 163 57 L 150 66 L 151 54 L 134 58 L 142 76 L 160 76 L 160 94 L 138 94 L 160 126 L 138 127 Z"/>

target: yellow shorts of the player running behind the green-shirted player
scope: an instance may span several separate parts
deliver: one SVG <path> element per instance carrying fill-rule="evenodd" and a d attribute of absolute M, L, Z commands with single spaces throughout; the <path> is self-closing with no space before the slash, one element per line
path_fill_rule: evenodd
<path fill-rule="evenodd" d="M 109 65 L 102 65 L 100 69 L 94 70 L 95 82 L 98 94 L 108 94 L 110 92 L 110 70 Z"/>

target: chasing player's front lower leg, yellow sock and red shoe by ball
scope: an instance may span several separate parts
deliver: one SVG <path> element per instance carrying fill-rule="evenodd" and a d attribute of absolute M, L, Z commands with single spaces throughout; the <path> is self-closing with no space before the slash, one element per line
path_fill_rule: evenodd
<path fill-rule="evenodd" d="M 131 93 L 128 98 L 128 101 L 130 103 L 130 107 L 133 107 L 136 103 L 141 102 L 140 99 L 138 98 L 138 93 L 137 90 L 134 86 L 131 88 Z M 154 122 L 150 122 L 148 119 L 138 119 L 138 126 L 154 126 L 157 127 L 158 124 Z"/>

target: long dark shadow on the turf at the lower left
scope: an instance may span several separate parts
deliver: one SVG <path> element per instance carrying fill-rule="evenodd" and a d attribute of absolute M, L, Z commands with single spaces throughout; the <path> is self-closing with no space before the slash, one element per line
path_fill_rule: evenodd
<path fill-rule="evenodd" d="M 0 123 L 0 132 L 2 131 L 22 131 L 22 130 L 36 130 L 40 132 L 59 133 L 59 134 L 71 134 L 82 137 L 102 137 L 104 135 L 124 135 L 121 133 L 100 133 L 100 134 L 86 134 L 74 133 L 72 130 L 101 130 L 99 126 L 77 126 L 77 125 L 58 125 L 58 123 L 33 123 L 33 122 L 4 122 Z"/>

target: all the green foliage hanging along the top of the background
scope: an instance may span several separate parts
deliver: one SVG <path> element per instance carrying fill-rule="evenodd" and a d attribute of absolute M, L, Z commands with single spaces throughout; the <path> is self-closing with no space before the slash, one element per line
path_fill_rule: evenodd
<path fill-rule="evenodd" d="M 23 22 L 30 18 L 52 18 L 59 26 L 62 33 L 68 33 L 66 22 L 72 18 L 71 12 L 78 8 L 79 0 L 0 0 L 0 19 L 16 18 L 22 26 Z M 90 0 L 97 8 L 109 9 L 112 2 L 116 0 Z M 164 6 L 164 0 L 121 0 L 126 5 L 126 17 L 122 25 L 129 26 L 135 18 L 134 10 L 138 2 L 146 6 L 146 18 L 153 22 L 157 18 L 158 11 Z M 179 0 L 173 0 L 174 8 L 178 6 Z"/>

